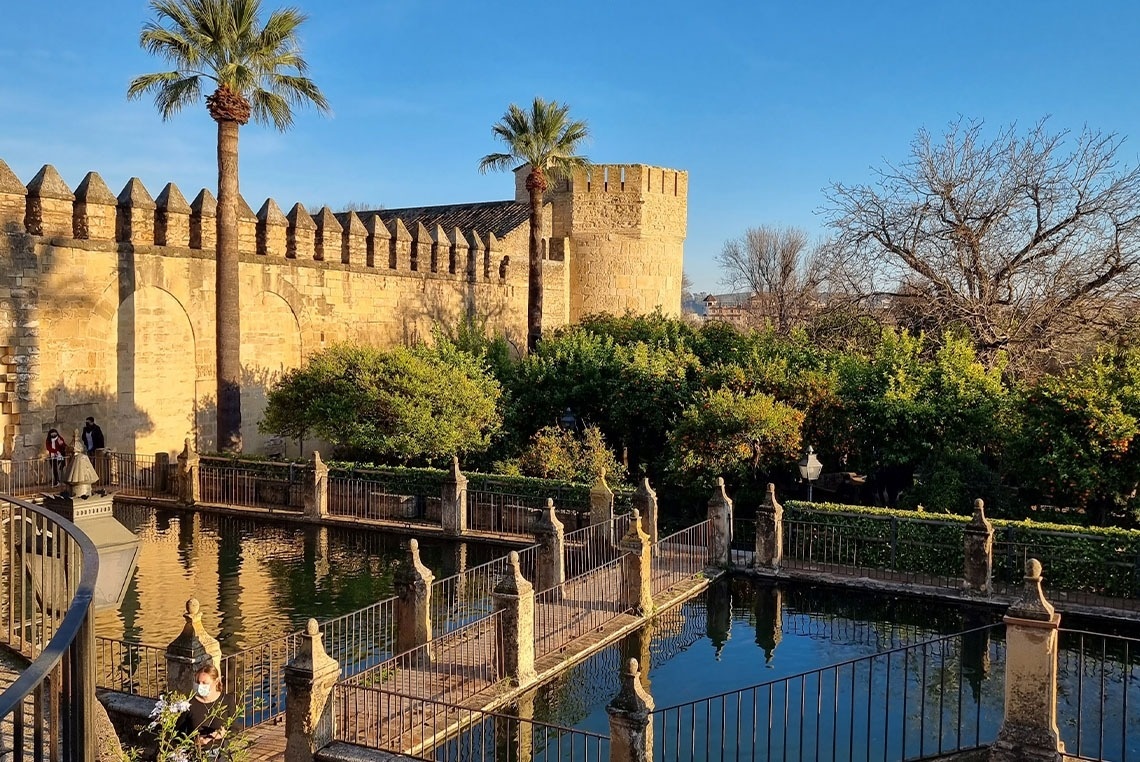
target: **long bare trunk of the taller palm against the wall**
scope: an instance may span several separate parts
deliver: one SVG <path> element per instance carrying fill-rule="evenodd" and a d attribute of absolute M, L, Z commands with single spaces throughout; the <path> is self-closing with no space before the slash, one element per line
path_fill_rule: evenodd
<path fill-rule="evenodd" d="M 215 335 L 218 344 L 218 448 L 242 452 L 242 331 L 237 277 L 237 130 L 218 122 L 218 248 Z"/>

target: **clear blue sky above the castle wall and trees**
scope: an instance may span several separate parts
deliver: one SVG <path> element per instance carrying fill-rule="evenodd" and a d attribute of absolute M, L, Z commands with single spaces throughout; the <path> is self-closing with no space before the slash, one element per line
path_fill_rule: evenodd
<path fill-rule="evenodd" d="M 275 8 L 275 0 L 266 0 Z M 1140 155 L 1140 3 L 451 2 L 298 0 L 311 76 L 333 114 L 291 132 L 242 131 L 242 192 L 256 208 L 489 201 L 490 125 L 511 102 L 568 102 L 596 162 L 690 173 L 685 269 L 720 289 L 715 257 L 749 226 L 824 233 L 832 181 L 905 156 L 919 128 L 1050 116 L 1129 137 Z M 138 47 L 141 0 L 11 2 L 0 27 L 0 159 L 25 183 L 44 163 L 74 187 L 215 184 L 204 106 L 163 123 L 127 83 L 163 68 Z"/>

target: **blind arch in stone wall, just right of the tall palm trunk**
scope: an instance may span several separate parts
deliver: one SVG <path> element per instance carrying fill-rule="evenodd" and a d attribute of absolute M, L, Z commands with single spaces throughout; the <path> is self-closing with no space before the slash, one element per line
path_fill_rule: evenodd
<path fill-rule="evenodd" d="M 290 368 L 301 365 L 301 324 L 278 293 L 261 291 L 242 305 L 242 439 L 247 453 L 282 452 L 258 430 L 266 395 Z"/>

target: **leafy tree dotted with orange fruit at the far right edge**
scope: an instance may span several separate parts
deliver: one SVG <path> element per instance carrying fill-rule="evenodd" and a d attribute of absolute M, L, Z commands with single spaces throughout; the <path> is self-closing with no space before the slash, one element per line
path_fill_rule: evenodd
<path fill-rule="evenodd" d="M 1104 350 L 1017 396 L 1007 465 L 1025 497 L 1130 520 L 1140 483 L 1140 354 Z"/>

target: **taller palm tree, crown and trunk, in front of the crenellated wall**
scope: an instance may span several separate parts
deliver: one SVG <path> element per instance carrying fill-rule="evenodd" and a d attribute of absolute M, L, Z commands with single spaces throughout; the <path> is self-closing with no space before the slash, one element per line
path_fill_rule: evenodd
<path fill-rule="evenodd" d="M 261 24 L 260 0 L 152 0 L 139 44 L 173 65 L 173 71 L 131 81 L 127 97 L 154 94 L 163 120 L 199 103 L 203 80 L 215 89 L 205 99 L 218 122 L 218 243 L 215 300 L 218 346 L 218 447 L 242 449 L 241 313 L 237 276 L 237 130 L 254 121 L 284 131 L 293 107 L 328 110 L 308 76 L 298 27 L 306 16 L 275 10 Z"/>

